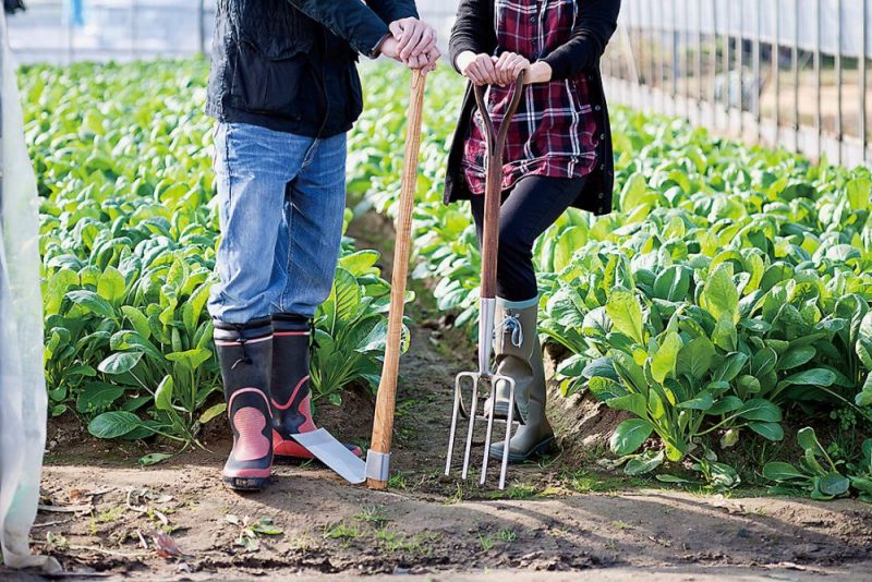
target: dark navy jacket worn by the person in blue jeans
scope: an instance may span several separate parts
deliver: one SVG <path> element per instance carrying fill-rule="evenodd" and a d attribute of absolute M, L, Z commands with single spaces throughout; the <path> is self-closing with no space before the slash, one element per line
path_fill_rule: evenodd
<path fill-rule="evenodd" d="M 377 56 L 414 0 L 219 0 L 206 112 L 329 137 L 363 109 L 358 54 Z"/>

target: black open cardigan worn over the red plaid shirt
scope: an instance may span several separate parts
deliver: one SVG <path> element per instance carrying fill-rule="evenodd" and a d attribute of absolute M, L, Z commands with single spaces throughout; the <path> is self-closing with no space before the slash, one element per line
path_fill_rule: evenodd
<path fill-rule="evenodd" d="M 561 81 L 588 74 L 591 89 L 591 105 L 601 116 L 600 149 L 596 169 L 584 180 L 584 187 L 579 192 L 573 206 L 590 210 L 596 215 L 611 211 L 611 190 L 615 184 L 615 160 L 611 151 L 611 129 L 608 122 L 608 108 L 603 92 L 603 78 L 600 74 L 600 57 L 617 28 L 620 0 L 577 0 L 580 2 L 580 14 L 572 38 L 554 50 L 542 56 L 553 70 L 553 78 Z M 497 50 L 497 36 L 494 29 L 494 0 L 462 0 L 458 8 L 458 17 L 451 31 L 449 53 L 451 64 L 457 68 L 457 57 L 467 50 L 475 53 L 494 54 Z M 472 86 L 468 85 L 463 99 L 462 112 L 451 143 L 448 156 L 448 172 L 445 178 L 445 203 L 468 199 L 470 192 L 463 175 L 463 142 L 470 132 L 475 99 Z"/>

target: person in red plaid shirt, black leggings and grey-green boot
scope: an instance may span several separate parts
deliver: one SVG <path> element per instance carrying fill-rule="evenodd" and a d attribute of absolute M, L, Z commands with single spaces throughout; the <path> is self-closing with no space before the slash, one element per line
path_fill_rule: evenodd
<path fill-rule="evenodd" d="M 482 238 L 485 138 L 471 85 L 489 85 L 494 123 L 510 123 L 502 167 L 497 313 L 498 374 L 517 383 L 521 426 L 509 459 L 546 453 L 554 432 L 545 416 L 545 371 L 537 334 L 536 239 L 570 206 L 611 210 L 614 160 L 600 58 L 617 27 L 620 0 L 462 0 L 449 46 L 470 80 L 448 159 L 446 203 L 469 199 Z M 504 120 L 512 83 L 524 71 L 524 96 Z M 508 386 L 497 384 L 485 410 L 508 415 Z M 492 457 L 502 457 L 502 444 Z"/>

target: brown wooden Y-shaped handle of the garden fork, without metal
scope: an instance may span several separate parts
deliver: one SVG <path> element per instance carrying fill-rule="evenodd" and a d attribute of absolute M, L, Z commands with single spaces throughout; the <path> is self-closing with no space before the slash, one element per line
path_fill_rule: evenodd
<path fill-rule="evenodd" d="M 475 87 L 475 102 L 484 120 L 487 138 L 487 179 L 484 193 L 484 235 L 482 237 L 482 299 L 497 296 L 497 254 L 499 244 L 499 207 L 502 203 L 502 154 L 506 138 L 509 135 L 511 119 L 518 111 L 524 93 L 524 72 L 521 71 L 514 82 L 514 93 L 499 125 L 499 133 L 494 128 L 494 120 L 487 111 L 485 88 Z"/>

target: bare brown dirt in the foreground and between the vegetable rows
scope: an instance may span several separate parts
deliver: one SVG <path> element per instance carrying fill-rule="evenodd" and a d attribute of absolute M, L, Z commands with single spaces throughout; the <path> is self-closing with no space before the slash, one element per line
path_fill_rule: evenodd
<path fill-rule="evenodd" d="M 34 545 L 85 579 L 111 580 L 872 580 L 872 508 L 853 501 L 633 488 L 561 459 L 512 470 L 504 493 L 443 477 L 450 383 L 472 353 L 425 302 L 414 308 L 390 492 L 349 486 L 307 464 L 279 465 L 267 492 L 238 495 L 220 483 L 230 448 L 223 427 L 206 435 L 214 452 L 140 469 L 132 446 L 53 425 L 43 480 L 53 510 L 40 511 Z M 346 410 L 353 413 L 325 408 L 322 423 L 366 442 L 372 398 L 350 395 Z M 182 556 L 158 555 L 159 531 Z M 24 579 L 0 567 L 0 579 L 13 578 Z"/>

